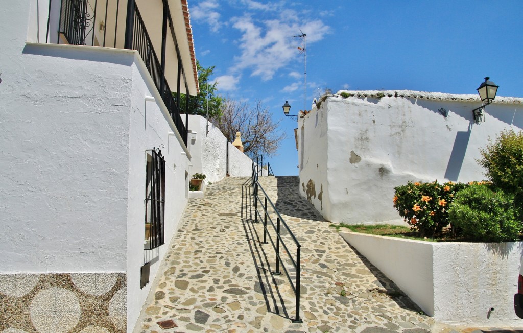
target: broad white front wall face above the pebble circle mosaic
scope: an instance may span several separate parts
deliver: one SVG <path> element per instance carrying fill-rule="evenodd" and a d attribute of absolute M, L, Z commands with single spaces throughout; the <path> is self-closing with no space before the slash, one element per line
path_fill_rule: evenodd
<path fill-rule="evenodd" d="M 2 51 L 0 272 L 125 271 L 133 55 L 49 46 Z"/>

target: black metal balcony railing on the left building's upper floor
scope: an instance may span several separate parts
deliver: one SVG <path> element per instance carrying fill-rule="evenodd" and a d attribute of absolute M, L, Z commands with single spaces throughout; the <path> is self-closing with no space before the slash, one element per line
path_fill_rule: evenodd
<path fill-rule="evenodd" d="M 164 13 L 168 13 L 168 9 L 165 6 L 166 4 L 164 3 Z M 120 0 L 61 0 L 58 40 L 56 43 L 65 42 L 71 45 L 119 47 L 137 50 L 167 107 L 170 117 L 174 121 L 178 133 L 187 146 L 187 127 L 180 117 L 179 101 L 173 97 L 172 90 L 170 90 L 165 79 L 165 61 L 160 61 L 155 52 L 140 10 L 134 0 L 129 0 L 128 2 L 126 21 L 120 22 L 121 26 L 126 25 L 127 22 L 131 22 L 131 25 L 129 29 L 126 29 L 125 34 L 123 34 L 122 27 L 120 27 L 121 31 L 120 35 L 118 35 L 118 17 L 123 15 L 123 13 L 120 13 L 125 10 L 123 7 L 125 6 L 120 6 Z M 129 8 L 131 9 L 129 10 Z M 162 22 L 161 19 L 158 21 Z M 164 29 L 162 33 L 165 35 L 168 30 L 166 28 L 167 18 L 164 18 L 163 24 Z M 168 24 L 172 24 L 170 18 Z M 125 36 L 123 37 L 123 35 Z M 165 36 L 162 36 L 162 39 L 165 40 Z M 174 37 L 173 40 L 175 40 Z M 164 51 L 165 48 L 162 47 L 162 54 L 164 54 Z M 181 63 L 178 52 L 176 56 L 178 63 Z M 164 58 L 161 59 L 164 60 Z M 178 69 L 179 71 L 180 69 Z M 178 73 L 178 76 L 180 76 L 180 73 Z"/>

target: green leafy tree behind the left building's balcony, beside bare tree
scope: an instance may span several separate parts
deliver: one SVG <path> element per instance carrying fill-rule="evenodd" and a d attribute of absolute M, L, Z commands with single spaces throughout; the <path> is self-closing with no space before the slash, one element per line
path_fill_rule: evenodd
<path fill-rule="evenodd" d="M 198 114 L 199 116 L 207 116 L 207 101 L 209 101 L 209 118 L 219 119 L 221 116 L 222 98 L 216 95 L 217 83 L 210 83 L 209 77 L 212 76 L 215 66 L 202 67 L 200 62 L 196 61 L 198 68 L 198 85 L 200 86 L 200 93 L 196 96 L 189 96 L 189 114 Z M 208 98 L 208 100 L 207 100 Z M 180 95 L 180 112 L 186 110 L 186 96 Z"/>

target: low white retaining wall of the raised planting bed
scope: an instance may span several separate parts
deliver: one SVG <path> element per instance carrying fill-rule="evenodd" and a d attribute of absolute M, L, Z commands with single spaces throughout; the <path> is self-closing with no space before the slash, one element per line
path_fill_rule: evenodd
<path fill-rule="evenodd" d="M 340 235 L 429 316 L 449 324 L 522 326 L 514 294 L 523 242 L 433 243 Z M 494 311 L 488 312 L 488 309 Z"/>

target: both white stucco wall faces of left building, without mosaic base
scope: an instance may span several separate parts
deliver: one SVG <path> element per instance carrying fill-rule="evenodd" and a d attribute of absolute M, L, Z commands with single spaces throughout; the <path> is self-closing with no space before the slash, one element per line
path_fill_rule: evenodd
<path fill-rule="evenodd" d="M 36 3 L 0 14 L 0 273 L 126 272 L 132 331 L 151 286 L 140 267 L 153 262 L 152 281 L 190 155 L 135 51 L 26 44 L 44 34 L 28 20 Z M 145 151 L 161 144 L 166 245 L 144 251 Z"/>

